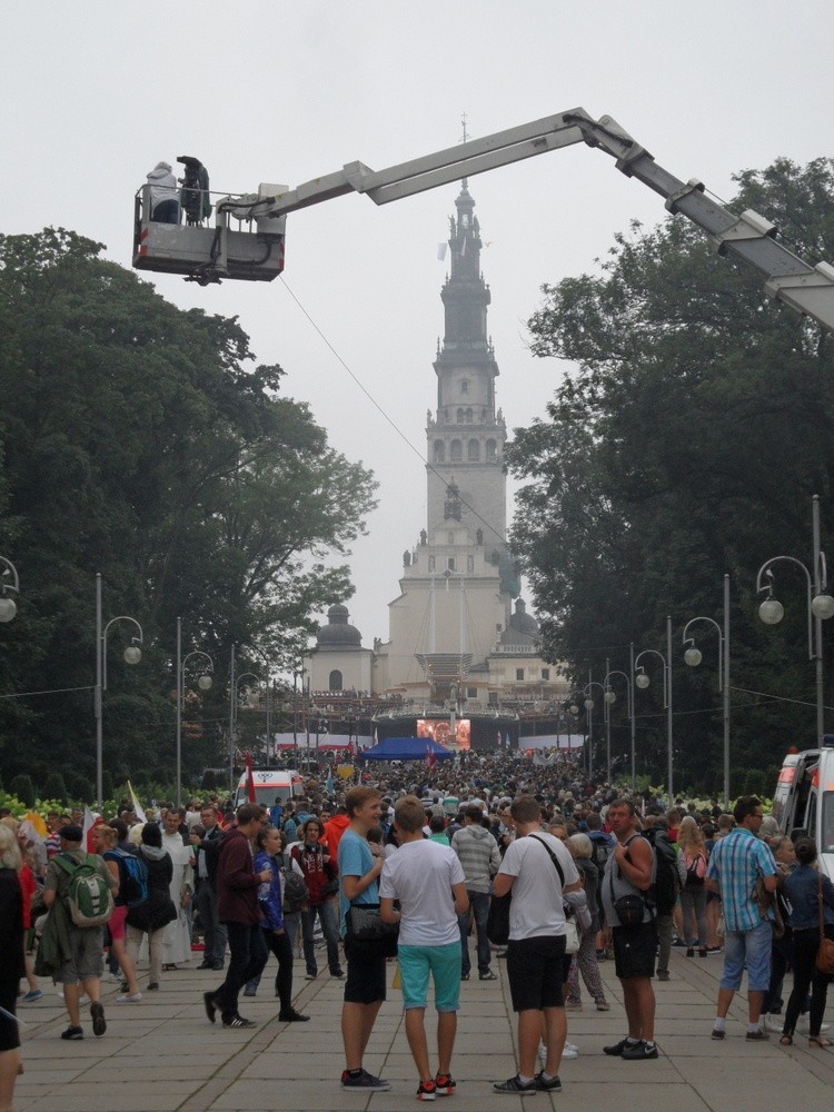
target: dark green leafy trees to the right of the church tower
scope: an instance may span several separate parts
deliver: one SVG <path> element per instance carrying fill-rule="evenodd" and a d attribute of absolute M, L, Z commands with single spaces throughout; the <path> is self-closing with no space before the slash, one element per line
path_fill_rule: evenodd
<path fill-rule="evenodd" d="M 780 159 L 736 181 L 734 208 L 766 215 L 808 260 L 834 258 L 834 162 Z M 813 572 L 812 495 L 821 497 L 823 548 L 834 535 L 831 337 L 770 301 L 758 279 L 712 254 L 683 217 L 634 225 L 598 274 L 543 287 L 529 329 L 536 355 L 577 365 L 548 418 L 517 430 L 508 450 L 526 480 L 513 538 L 549 658 L 567 662 L 583 686 L 588 668 L 603 679 L 606 658 L 627 672 L 631 643 L 665 655 L 672 615 L 677 783 L 714 790 L 717 635 L 696 629 L 704 663 L 689 669 L 681 633 L 698 615 L 722 624 L 728 573 L 733 766 L 767 768 L 788 745 L 815 744 L 804 576 L 774 568 L 786 608 L 776 628 L 756 616 L 755 579 L 776 555 Z M 638 767 L 659 775 L 656 694 L 637 692 L 636 709 Z M 624 752 L 627 729 L 617 737 Z"/>

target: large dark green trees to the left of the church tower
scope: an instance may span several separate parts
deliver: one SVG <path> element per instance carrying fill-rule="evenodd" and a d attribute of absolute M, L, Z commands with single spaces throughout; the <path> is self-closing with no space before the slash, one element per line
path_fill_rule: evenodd
<path fill-rule="evenodd" d="M 97 572 L 105 623 L 127 614 L 145 633 L 133 668 L 135 631 L 110 633 L 106 767 L 159 780 L 177 616 L 183 655 L 210 654 L 216 678 L 232 644 L 258 675 L 265 657 L 291 666 L 311 614 L 350 595 L 342 558 L 374 506 L 370 473 L 280 394 L 282 370 L 256 365 L 236 319 L 177 309 L 100 250 L 63 229 L 0 236 L 0 552 L 21 577 L 0 762 L 36 782 L 95 767 Z M 198 701 L 186 766 L 216 759 L 227 701 L 222 682 Z"/>

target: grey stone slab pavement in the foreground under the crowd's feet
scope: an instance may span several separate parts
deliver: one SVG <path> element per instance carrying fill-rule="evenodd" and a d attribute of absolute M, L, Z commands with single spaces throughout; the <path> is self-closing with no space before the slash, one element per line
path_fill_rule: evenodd
<path fill-rule="evenodd" d="M 823 1112 L 834 1093 L 834 1049 L 807 1050 L 797 1037 L 788 1050 L 744 1040 L 745 1002 L 737 996 L 724 1042 L 709 1039 L 715 1015 L 721 956 L 686 959 L 673 950 L 672 979 L 655 984 L 657 1043 L 655 1062 L 606 1058 L 603 1045 L 625 1031 L 619 984 L 612 962 L 600 965 L 609 1012 L 593 1003 L 568 1013 L 569 1040 L 580 1056 L 564 1062 L 560 1094 L 537 1093 L 534 1109 L 577 1108 L 647 1110 L 647 1112 Z M 196 964 L 196 963 L 195 963 Z M 461 1011 L 454 1058 L 458 1083 L 450 1104 L 457 1112 L 520 1109 L 530 1098 L 500 1095 L 492 1083 L 515 1073 L 515 1022 L 506 973 L 494 962 L 499 980 L 461 985 Z M 267 973 L 274 973 L 270 959 Z M 395 966 L 390 966 L 393 980 Z M 147 977 L 141 977 L 145 983 Z M 312 1016 L 309 1023 L 280 1023 L 271 976 L 258 996 L 241 996 L 241 1011 L 257 1020 L 249 1031 L 211 1026 L 201 994 L 215 987 L 217 974 L 185 967 L 163 974 L 161 990 L 146 993 L 141 1004 L 116 1004 L 118 986 L 106 984 L 108 1031 L 92 1035 L 89 1010 L 82 1011 L 83 1042 L 62 1042 L 67 1025 L 62 1002 L 50 985 L 34 1004 L 21 1004 L 26 1021 L 23 1061 L 18 1081 L 18 1112 L 264 1112 L 264 1110 L 368 1109 L 396 1112 L 417 1108 L 417 1076 L 401 1030 L 399 991 L 391 990 L 368 1048 L 366 1066 L 391 1082 L 391 1091 L 373 1095 L 344 1092 L 339 1034 L 341 983 L 326 970 L 316 981 L 304 980 L 296 963 L 296 1004 Z M 390 983 L 390 981 L 389 981 Z M 46 991 L 49 989 L 49 991 Z M 834 1002 L 833 1002 L 834 1003 Z M 429 1045 L 434 1023 L 427 1012 Z M 438 1098 L 443 1104 L 446 1098 Z"/>

